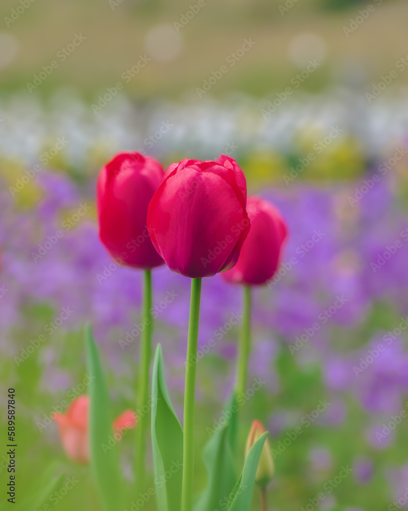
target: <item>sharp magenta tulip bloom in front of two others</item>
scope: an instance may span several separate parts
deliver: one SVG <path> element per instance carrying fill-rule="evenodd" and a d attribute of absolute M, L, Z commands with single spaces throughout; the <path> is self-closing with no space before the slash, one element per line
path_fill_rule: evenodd
<path fill-rule="evenodd" d="M 232 268 L 250 228 L 242 170 L 224 155 L 170 165 L 150 201 L 147 225 L 172 271 L 200 278 Z"/>

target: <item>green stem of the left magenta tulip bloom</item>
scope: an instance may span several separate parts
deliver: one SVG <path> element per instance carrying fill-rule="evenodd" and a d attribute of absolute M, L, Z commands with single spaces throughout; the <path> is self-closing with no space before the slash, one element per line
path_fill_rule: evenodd
<path fill-rule="evenodd" d="M 151 334 L 153 321 L 151 317 L 151 270 L 144 271 L 143 304 L 141 321 L 144 329 L 140 334 L 140 357 L 139 374 L 136 391 L 137 428 L 136 428 L 136 453 L 135 453 L 135 490 L 136 498 L 144 491 L 145 483 L 145 457 L 146 457 L 146 434 L 149 428 L 148 401 L 149 401 L 149 376 L 151 360 Z"/>

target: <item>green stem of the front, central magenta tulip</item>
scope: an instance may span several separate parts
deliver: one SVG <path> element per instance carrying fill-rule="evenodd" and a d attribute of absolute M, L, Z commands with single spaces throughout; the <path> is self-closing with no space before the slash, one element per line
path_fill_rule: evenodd
<path fill-rule="evenodd" d="M 200 317 L 200 295 L 201 278 L 192 278 L 186 358 L 186 384 L 184 390 L 182 511 L 192 511 L 193 508 L 195 369 L 197 361 L 198 322 Z"/>

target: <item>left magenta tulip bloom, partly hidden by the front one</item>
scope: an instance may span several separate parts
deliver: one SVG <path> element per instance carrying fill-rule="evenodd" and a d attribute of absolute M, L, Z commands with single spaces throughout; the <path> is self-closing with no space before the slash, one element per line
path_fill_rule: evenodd
<path fill-rule="evenodd" d="M 146 225 L 147 207 L 163 175 L 157 160 L 138 152 L 117 154 L 99 172 L 99 237 L 120 264 L 149 269 L 164 263 Z"/>

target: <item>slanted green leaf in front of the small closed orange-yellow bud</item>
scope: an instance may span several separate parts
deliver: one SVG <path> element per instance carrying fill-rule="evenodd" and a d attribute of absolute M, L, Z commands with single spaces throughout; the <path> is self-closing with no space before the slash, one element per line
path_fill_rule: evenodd
<path fill-rule="evenodd" d="M 259 459 L 265 444 L 267 432 L 260 436 L 251 447 L 245 460 L 244 470 L 239 478 L 232 496 L 228 502 L 228 510 L 231 511 L 249 511 L 251 507 L 253 485 L 257 475 Z"/>

